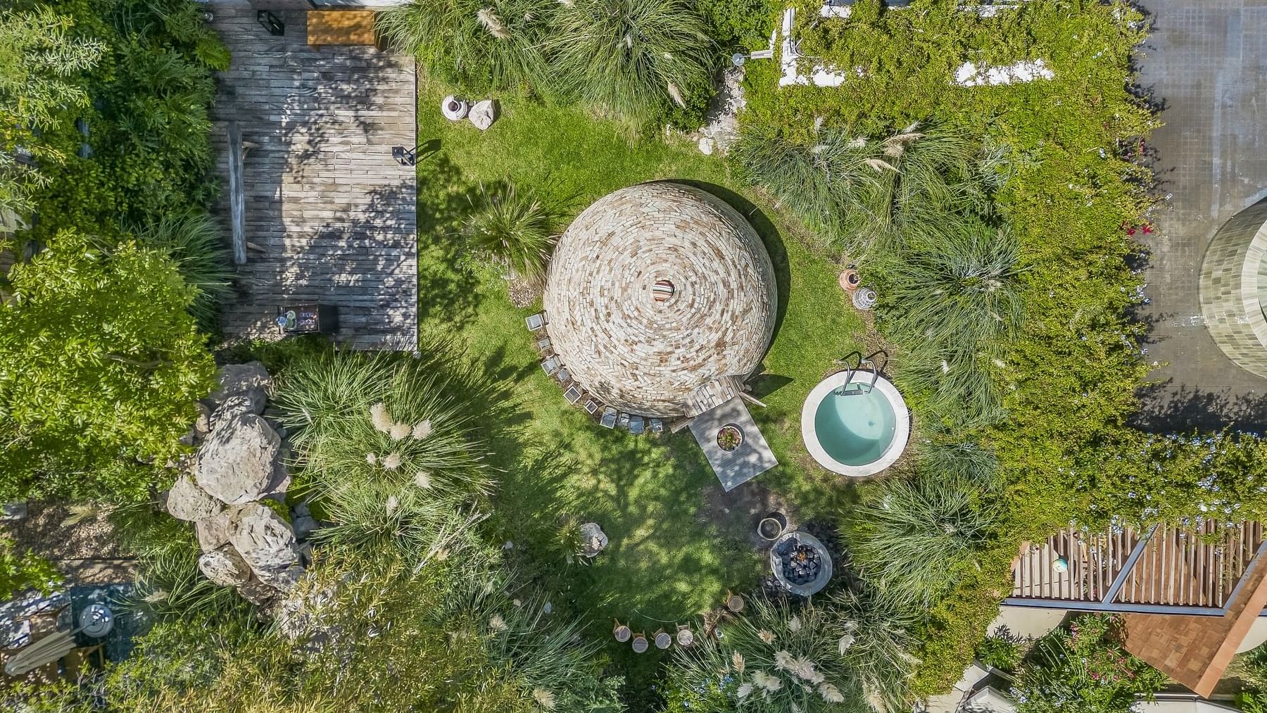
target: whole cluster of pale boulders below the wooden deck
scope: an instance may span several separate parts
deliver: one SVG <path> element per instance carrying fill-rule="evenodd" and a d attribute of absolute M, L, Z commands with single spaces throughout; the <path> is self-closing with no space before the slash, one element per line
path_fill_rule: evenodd
<path fill-rule="evenodd" d="M 167 491 L 167 512 L 194 523 L 207 579 L 272 608 L 303 574 L 295 528 L 279 514 L 290 472 L 281 437 L 264 417 L 272 379 L 260 362 L 220 369 L 219 388 L 199 404 L 186 442 L 198 446 L 189 471 Z M 266 503 L 266 502 L 271 502 Z M 305 532 L 315 522 L 303 512 Z"/>

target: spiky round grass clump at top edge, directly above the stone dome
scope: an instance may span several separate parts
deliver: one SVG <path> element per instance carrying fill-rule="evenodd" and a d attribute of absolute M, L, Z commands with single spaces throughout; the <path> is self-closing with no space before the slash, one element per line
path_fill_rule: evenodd
<path fill-rule="evenodd" d="M 564 98 L 635 127 L 684 106 L 715 67 L 707 28 L 683 0 L 556 4 L 544 47 Z"/>

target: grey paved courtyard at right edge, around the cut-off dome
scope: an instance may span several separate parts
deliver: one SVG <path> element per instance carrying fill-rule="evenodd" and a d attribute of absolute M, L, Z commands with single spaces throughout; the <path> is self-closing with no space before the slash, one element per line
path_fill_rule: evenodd
<path fill-rule="evenodd" d="M 1267 198 L 1267 0 L 1143 0 L 1153 35 L 1140 84 L 1163 103 L 1153 134 L 1159 191 L 1147 271 L 1148 358 L 1169 362 L 1145 395 L 1143 426 L 1267 428 L 1267 380 L 1206 332 L 1197 276 L 1223 223 Z"/>

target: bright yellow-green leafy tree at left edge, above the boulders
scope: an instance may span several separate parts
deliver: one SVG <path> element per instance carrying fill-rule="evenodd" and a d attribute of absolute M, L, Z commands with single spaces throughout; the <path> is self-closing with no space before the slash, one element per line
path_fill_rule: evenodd
<path fill-rule="evenodd" d="M 63 232 L 0 305 L 0 496 L 137 499 L 215 371 L 194 290 L 160 251 Z"/>

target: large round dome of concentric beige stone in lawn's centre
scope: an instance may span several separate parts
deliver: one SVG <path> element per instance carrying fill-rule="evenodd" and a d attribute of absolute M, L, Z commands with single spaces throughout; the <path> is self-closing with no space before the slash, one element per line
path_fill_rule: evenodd
<path fill-rule="evenodd" d="M 734 208 L 682 184 L 621 189 L 555 248 L 546 332 L 571 379 L 620 410 L 698 415 L 734 398 L 774 333 L 774 267 Z"/>

